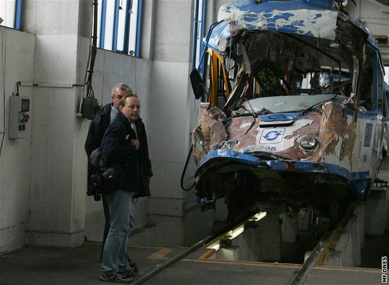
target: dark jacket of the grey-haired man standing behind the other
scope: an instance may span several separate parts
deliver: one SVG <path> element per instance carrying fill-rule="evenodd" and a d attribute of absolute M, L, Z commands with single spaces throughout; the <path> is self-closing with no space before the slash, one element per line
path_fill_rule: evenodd
<path fill-rule="evenodd" d="M 90 122 L 89 131 L 87 140 L 85 141 L 85 151 L 87 152 L 88 158 L 90 153 L 95 149 L 101 146 L 101 142 L 103 140 L 103 136 L 106 133 L 106 129 L 109 126 L 109 121 L 111 118 L 111 107 L 112 103 L 106 104 L 103 108 L 101 108 L 96 115 L 93 117 L 93 120 Z M 93 195 L 93 191 L 91 189 L 89 177 L 92 174 L 95 174 L 96 168 L 94 168 L 88 162 L 88 195 Z M 104 184 L 101 185 L 101 190 L 104 191 Z"/>

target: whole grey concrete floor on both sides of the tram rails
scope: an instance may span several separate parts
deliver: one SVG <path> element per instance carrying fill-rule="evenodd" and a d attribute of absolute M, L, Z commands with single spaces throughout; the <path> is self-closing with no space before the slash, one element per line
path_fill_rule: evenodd
<path fill-rule="evenodd" d="M 128 247 L 140 273 L 134 283 L 185 248 Z M 202 258 L 200 249 L 162 271 L 146 284 L 288 284 L 295 264 L 223 261 Z M 22 248 L 0 257 L 0 285 L 106 284 L 100 281 L 100 245 L 86 243 L 71 250 Z M 381 284 L 379 269 L 315 267 L 307 284 Z"/>

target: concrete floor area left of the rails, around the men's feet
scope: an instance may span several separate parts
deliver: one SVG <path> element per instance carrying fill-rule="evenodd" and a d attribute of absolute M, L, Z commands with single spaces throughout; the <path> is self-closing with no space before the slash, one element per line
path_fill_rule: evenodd
<path fill-rule="evenodd" d="M 0 257 L 0 285 L 106 284 L 100 281 L 100 250 L 100 244 L 85 243 L 70 250 L 25 247 L 13 251 Z M 133 245 L 128 254 L 139 267 L 139 279 L 184 250 Z"/>

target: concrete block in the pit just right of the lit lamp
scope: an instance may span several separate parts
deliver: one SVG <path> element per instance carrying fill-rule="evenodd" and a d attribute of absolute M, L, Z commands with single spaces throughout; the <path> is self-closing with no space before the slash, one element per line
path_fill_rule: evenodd
<path fill-rule="evenodd" d="M 283 259 L 282 230 L 278 213 L 267 213 L 258 221 L 259 260 L 280 261 Z"/>

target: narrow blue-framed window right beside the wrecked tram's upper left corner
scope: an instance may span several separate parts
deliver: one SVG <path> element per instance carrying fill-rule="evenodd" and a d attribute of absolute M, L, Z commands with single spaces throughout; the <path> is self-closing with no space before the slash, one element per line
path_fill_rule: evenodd
<path fill-rule="evenodd" d="M 193 67 L 197 67 L 200 61 L 201 52 L 204 49 L 203 37 L 205 28 L 205 13 L 207 0 L 195 1 L 195 25 L 194 25 L 194 40 L 193 40 Z M 202 73 L 203 64 L 199 67 L 200 74 Z"/>

